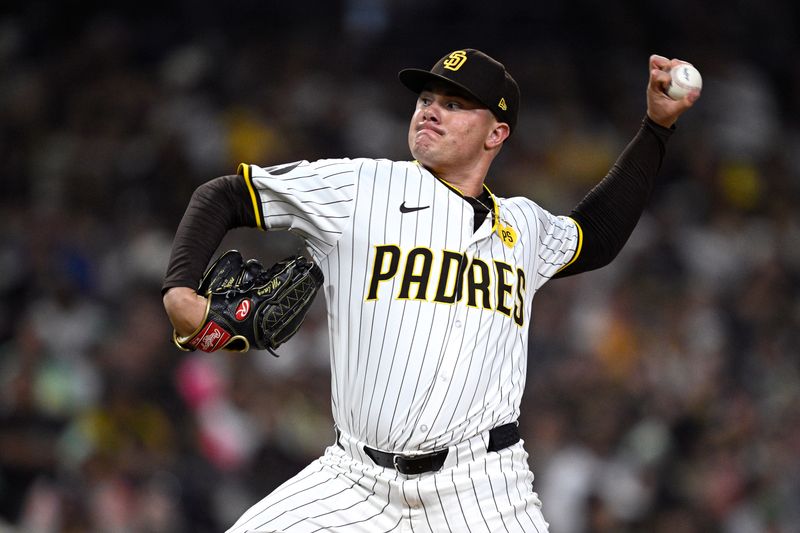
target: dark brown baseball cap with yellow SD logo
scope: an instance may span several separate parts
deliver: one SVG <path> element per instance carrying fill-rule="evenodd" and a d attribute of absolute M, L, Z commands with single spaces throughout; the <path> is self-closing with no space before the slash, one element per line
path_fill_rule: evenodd
<path fill-rule="evenodd" d="M 403 85 L 419 94 L 431 81 L 454 85 L 486 106 L 497 120 L 517 125 L 519 86 L 506 67 L 480 50 L 456 50 L 441 58 L 430 70 L 407 68 L 398 74 Z"/>

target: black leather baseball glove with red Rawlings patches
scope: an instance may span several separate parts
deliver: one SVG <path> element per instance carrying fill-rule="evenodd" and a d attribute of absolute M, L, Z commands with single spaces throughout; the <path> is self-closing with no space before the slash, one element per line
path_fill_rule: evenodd
<path fill-rule="evenodd" d="M 173 330 L 172 340 L 184 351 L 257 348 L 277 357 L 274 350 L 303 323 L 322 280 L 322 270 L 303 256 L 265 270 L 229 250 L 208 267 L 197 289 L 208 300 L 202 324 L 186 337 Z"/>

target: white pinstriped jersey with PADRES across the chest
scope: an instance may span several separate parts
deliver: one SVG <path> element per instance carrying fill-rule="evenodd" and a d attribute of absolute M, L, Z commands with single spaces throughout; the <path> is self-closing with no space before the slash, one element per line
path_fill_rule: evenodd
<path fill-rule="evenodd" d="M 300 235 L 325 273 L 343 433 L 381 450 L 428 451 L 517 419 L 531 301 L 577 256 L 574 221 L 493 197 L 499 217 L 473 231 L 470 204 L 409 161 L 240 173 L 263 229 Z"/>

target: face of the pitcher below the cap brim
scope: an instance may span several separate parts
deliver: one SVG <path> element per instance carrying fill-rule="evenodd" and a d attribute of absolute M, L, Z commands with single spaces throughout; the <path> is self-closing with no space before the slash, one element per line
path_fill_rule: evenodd
<path fill-rule="evenodd" d="M 408 129 L 411 155 L 434 172 L 473 164 L 497 126 L 491 111 L 447 85 L 429 85 L 417 98 Z"/>

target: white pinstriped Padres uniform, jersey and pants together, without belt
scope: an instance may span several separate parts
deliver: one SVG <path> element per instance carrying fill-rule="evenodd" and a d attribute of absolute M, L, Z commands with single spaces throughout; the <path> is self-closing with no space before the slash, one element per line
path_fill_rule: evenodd
<path fill-rule="evenodd" d="M 437 475 L 399 479 L 357 448 L 331 447 L 234 530 L 546 530 L 522 447 L 487 454 L 475 439 L 519 416 L 531 301 L 575 255 L 574 221 L 495 197 L 499 221 L 473 231 L 472 207 L 413 162 L 247 170 L 265 229 L 302 236 L 325 272 L 337 427 L 386 451 L 475 449 Z"/>

